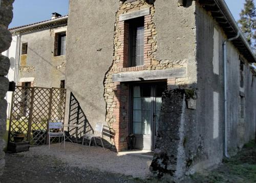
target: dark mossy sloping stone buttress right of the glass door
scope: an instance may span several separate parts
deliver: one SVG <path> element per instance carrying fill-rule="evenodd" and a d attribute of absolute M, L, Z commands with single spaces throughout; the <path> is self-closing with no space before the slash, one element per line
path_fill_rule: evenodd
<path fill-rule="evenodd" d="M 151 171 L 158 178 L 178 177 L 184 161 L 185 90 L 166 90 L 162 96 L 159 128 Z M 178 177 L 179 178 L 179 177 Z"/>

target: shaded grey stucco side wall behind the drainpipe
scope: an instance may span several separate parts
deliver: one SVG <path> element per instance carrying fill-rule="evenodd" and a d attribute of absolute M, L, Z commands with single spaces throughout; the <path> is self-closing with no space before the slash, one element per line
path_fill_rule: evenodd
<path fill-rule="evenodd" d="M 197 117 L 194 123 L 194 140 L 201 139 L 201 155 L 194 158 L 190 171 L 200 171 L 212 165 L 220 163 L 223 158 L 224 142 L 224 89 L 223 89 L 223 47 L 226 36 L 219 24 L 199 4 L 196 8 L 197 24 L 197 65 L 198 65 L 198 90 L 197 90 Z M 219 75 L 214 73 L 212 58 L 214 57 L 214 28 L 219 32 Z M 200 51 L 199 51 L 200 50 Z M 246 67 L 245 98 L 255 98 L 252 81 L 252 73 Z M 246 124 L 245 134 L 239 140 L 239 96 L 240 96 L 240 60 L 239 51 L 231 42 L 227 43 L 227 83 L 228 83 L 228 152 L 230 155 L 237 152 L 237 148 L 248 142 L 255 135 L 255 101 L 246 100 Z M 218 137 L 214 138 L 214 92 L 219 93 L 219 127 Z M 193 145 L 193 143 L 191 143 Z M 195 148 L 191 146 L 191 152 Z"/>

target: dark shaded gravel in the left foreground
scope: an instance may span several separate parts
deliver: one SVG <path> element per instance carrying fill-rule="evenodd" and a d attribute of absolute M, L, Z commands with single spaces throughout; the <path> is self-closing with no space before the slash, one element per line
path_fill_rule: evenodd
<path fill-rule="evenodd" d="M 69 167 L 53 156 L 6 154 L 2 183 L 144 183 L 120 174 Z"/>

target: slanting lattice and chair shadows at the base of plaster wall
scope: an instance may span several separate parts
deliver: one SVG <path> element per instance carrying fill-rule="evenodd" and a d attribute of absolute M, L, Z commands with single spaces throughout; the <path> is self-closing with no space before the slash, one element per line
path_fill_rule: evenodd
<path fill-rule="evenodd" d="M 74 96 L 74 94 L 70 93 L 70 104 L 69 104 L 69 124 L 78 124 L 81 125 L 81 127 L 68 127 L 68 130 L 66 131 L 66 136 L 72 141 L 75 142 L 77 139 L 77 143 L 82 143 L 83 135 L 87 133 L 94 133 L 93 126 L 89 123 L 86 115 L 84 114 L 83 110 L 80 107 L 80 103 Z M 108 126 L 103 126 L 103 136 L 108 138 L 113 138 L 113 134 L 110 132 Z M 101 146 L 101 142 L 99 139 L 95 139 L 96 144 L 94 140 L 91 142 L 91 145 L 95 146 Z M 69 140 L 67 140 L 69 141 Z M 110 142 L 102 139 L 103 145 L 105 148 L 108 148 L 110 150 L 116 151 L 116 147 L 113 146 Z M 85 139 L 84 144 L 89 145 L 89 140 Z"/>

